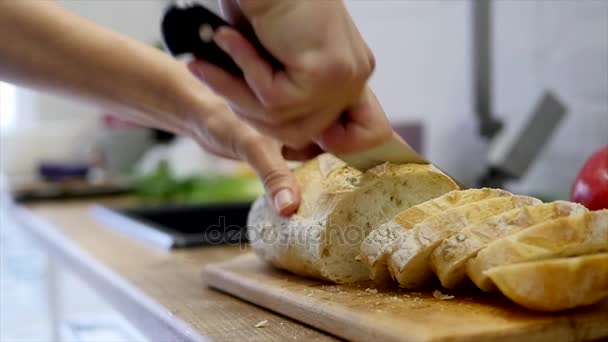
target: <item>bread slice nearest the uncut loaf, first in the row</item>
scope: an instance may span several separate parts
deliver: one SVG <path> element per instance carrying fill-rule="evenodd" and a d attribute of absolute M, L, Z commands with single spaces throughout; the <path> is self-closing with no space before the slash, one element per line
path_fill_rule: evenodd
<path fill-rule="evenodd" d="M 501 189 L 454 190 L 405 209 L 389 222 L 374 229 L 361 244 L 361 257 L 370 269 L 370 277 L 379 283 L 387 282 L 390 279 L 386 261 L 392 253 L 393 243 L 416 224 L 450 208 L 484 199 L 508 196 L 513 196 L 513 194 Z"/>

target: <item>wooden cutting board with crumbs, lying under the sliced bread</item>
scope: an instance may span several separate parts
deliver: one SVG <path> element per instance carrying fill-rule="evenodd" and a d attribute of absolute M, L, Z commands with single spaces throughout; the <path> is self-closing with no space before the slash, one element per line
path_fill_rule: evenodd
<path fill-rule="evenodd" d="M 253 253 L 209 265 L 209 286 L 355 341 L 584 341 L 608 337 L 608 300 L 560 314 L 480 291 L 433 295 L 371 283 L 335 285 L 274 269 Z M 437 288 L 440 288 L 437 286 Z"/>

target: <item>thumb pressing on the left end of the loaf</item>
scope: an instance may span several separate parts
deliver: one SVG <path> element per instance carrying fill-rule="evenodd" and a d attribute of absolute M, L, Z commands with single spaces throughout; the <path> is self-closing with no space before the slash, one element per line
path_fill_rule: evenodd
<path fill-rule="evenodd" d="M 293 214 L 300 205 L 298 183 L 283 159 L 281 145 L 263 135 L 247 139 L 243 159 L 256 171 L 275 210 L 282 216 Z"/>

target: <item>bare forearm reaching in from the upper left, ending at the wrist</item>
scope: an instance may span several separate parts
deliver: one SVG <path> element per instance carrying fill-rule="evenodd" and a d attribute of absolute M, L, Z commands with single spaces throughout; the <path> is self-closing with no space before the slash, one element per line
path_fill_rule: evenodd
<path fill-rule="evenodd" d="M 85 98 L 173 132 L 188 130 L 192 102 L 203 109 L 200 119 L 205 103 L 211 110 L 220 101 L 171 57 L 50 1 L 0 1 L 0 44 L 0 79 Z"/>

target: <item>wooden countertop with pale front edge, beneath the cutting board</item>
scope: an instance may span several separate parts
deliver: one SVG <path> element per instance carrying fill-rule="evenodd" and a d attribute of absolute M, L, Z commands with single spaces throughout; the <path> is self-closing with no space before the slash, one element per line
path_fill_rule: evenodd
<path fill-rule="evenodd" d="M 35 240 L 108 300 L 150 341 L 329 341 L 334 337 L 209 289 L 203 266 L 238 246 L 165 251 L 97 222 L 91 201 L 17 207 Z M 255 328 L 267 320 L 268 325 Z"/>

